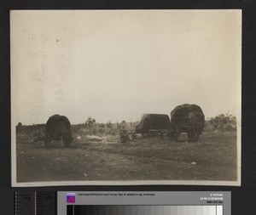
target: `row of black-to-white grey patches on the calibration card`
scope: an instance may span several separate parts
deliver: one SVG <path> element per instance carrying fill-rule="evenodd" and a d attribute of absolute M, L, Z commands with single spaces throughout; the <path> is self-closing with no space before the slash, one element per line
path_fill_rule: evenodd
<path fill-rule="evenodd" d="M 223 215 L 223 206 L 67 205 L 67 215 Z"/>

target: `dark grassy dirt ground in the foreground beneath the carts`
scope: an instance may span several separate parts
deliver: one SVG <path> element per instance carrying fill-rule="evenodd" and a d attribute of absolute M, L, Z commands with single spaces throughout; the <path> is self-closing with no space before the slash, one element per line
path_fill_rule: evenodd
<path fill-rule="evenodd" d="M 76 139 L 70 148 L 17 143 L 17 182 L 68 180 L 236 180 L 236 133 L 204 133 L 196 143 L 153 137 L 121 144 Z"/>

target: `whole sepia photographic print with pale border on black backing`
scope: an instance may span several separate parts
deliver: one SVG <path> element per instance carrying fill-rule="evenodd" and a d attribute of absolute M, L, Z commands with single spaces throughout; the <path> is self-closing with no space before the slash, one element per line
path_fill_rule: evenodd
<path fill-rule="evenodd" d="M 241 185 L 241 10 L 12 10 L 12 186 Z"/>

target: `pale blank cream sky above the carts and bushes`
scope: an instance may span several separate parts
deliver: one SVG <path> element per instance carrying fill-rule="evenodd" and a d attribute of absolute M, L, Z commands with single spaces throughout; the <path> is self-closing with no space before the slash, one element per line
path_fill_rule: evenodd
<path fill-rule="evenodd" d="M 241 10 L 13 10 L 12 122 L 241 117 Z"/>

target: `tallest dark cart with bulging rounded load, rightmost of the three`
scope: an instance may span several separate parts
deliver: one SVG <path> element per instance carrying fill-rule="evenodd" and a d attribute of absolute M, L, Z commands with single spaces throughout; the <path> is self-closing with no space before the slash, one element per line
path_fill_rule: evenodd
<path fill-rule="evenodd" d="M 177 140 L 180 133 L 188 133 L 190 142 L 199 139 L 204 127 L 205 116 L 201 107 L 198 105 L 178 105 L 171 112 L 170 135 Z"/>

